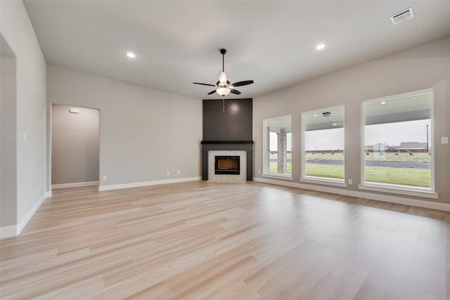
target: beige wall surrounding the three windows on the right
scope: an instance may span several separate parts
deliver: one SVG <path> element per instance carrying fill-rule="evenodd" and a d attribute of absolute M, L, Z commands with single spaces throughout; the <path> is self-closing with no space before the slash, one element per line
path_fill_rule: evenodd
<path fill-rule="evenodd" d="M 450 37 L 255 98 L 257 178 L 261 178 L 258 170 L 263 169 L 263 119 L 293 115 L 293 182 L 299 183 L 302 112 L 345 105 L 345 176 L 353 179 L 347 190 L 357 191 L 361 178 L 361 102 L 429 88 L 435 89 L 435 187 L 439 199 L 416 199 L 450 203 L 450 145 L 440 144 L 441 136 L 450 136 Z"/>

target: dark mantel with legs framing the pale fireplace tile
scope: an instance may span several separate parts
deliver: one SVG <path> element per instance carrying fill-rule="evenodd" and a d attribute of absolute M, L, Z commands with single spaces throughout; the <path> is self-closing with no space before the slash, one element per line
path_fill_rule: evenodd
<path fill-rule="evenodd" d="M 202 141 L 202 179 L 208 180 L 208 151 L 240 150 L 247 152 L 247 181 L 253 180 L 253 141 Z"/>

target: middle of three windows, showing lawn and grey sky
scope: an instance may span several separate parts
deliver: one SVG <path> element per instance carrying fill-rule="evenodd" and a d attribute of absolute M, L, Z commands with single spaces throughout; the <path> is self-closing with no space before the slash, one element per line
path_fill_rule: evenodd
<path fill-rule="evenodd" d="M 302 113 L 302 179 L 345 184 L 344 107 Z"/>

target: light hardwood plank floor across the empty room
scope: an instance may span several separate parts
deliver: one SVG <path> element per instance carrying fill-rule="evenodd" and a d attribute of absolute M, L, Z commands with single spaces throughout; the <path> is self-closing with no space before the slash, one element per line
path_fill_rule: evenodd
<path fill-rule="evenodd" d="M 1 299 L 449 299 L 450 214 L 262 183 L 53 190 Z"/>

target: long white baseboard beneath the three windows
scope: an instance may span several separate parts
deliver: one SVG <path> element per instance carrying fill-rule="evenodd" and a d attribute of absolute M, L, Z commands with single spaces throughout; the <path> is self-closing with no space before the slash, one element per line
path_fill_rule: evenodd
<path fill-rule="evenodd" d="M 431 201 L 409 199 L 409 198 L 397 197 L 397 196 L 391 196 L 391 195 L 380 195 L 380 194 L 359 192 L 356 190 L 345 190 L 342 188 L 330 188 L 330 187 L 321 186 L 321 185 L 309 185 L 309 184 L 303 184 L 303 183 L 276 181 L 273 179 L 266 179 L 266 178 L 259 178 L 259 177 L 255 177 L 255 178 L 253 178 L 253 180 L 257 181 L 257 182 L 262 182 L 262 183 L 284 185 L 284 186 L 288 186 L 290 188 L 302 188 L 304 190 L 316 190 L 318 192 L 326 192 L 326 193 L 333 193 L 333 194 L 338 194 L 338 195 L 365 198 L 365 199 L 370 199 L 370 200 L 378 200 L 378 201 L 390 202 L 390 203 L 395 203 L 395 204 L 411 205 L 413 207 L 423 207 L 426 209 L 437 209 L 437 210 L 442 210 L 442 211 L 450 211 L 450 204 L 442 203 L 442 202 L 431 202 Z"/>

